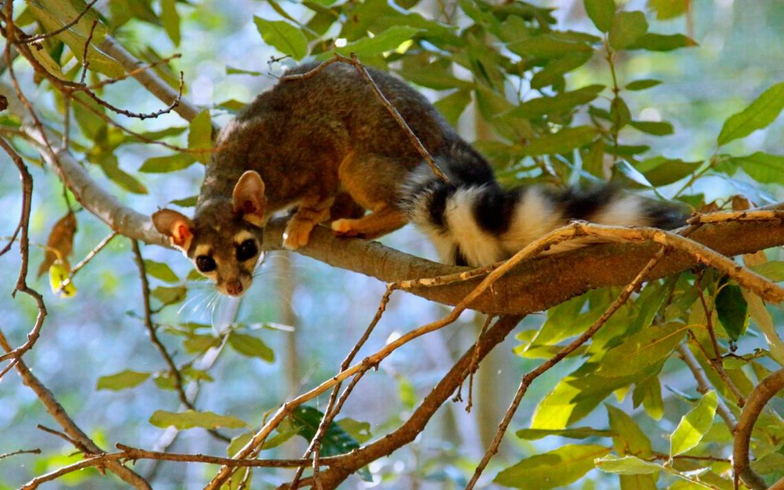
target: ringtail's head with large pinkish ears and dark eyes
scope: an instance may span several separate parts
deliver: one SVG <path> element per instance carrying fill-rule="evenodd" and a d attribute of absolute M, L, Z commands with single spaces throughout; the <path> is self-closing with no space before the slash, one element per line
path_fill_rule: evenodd
<path fill-rule="evenodd" d="M 251 285 L 261 252 L 265 204 L 261 177 L 248 171 L 234 185 L 231 201 L 205 203 L 194 220 L 161 209 L 152 221 L 201 274 L 215 281 L 219 292 L 241 296 Z"/>

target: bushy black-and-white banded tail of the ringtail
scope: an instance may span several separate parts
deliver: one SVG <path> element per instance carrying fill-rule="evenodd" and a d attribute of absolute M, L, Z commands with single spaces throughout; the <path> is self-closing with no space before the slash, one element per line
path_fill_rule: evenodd
<path fill-rule="evenodd" d="M 480 267 L 505 260 L 570 220 L 670 230 L 685 224 L 680 206 L 604 184 L 585 191 L 547 187 L 503 189 L 479 154 L 459 147 L 436 162 L 450 182 L 426 165 L 411 172 L 402 191 L 409 217 L 434 242 L 445 263 Z M 467 170 L 467 169 L 472 170 Z M 564 242 L 550 252 L 586 245 Z"/>

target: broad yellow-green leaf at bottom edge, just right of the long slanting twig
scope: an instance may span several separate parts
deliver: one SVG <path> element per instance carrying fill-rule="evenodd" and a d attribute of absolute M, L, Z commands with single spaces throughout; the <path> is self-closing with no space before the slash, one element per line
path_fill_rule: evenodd
<path fill-rule="evenodd" d="M 599 445 L 564 445 L 521 460 L 502 470 L 493 481 L 529 490 L 558 488 L 579 480 L 593 470 L 593 460 L 606 456 L 608 452 L 609 448 Z"/>

